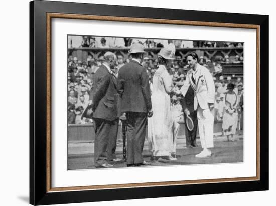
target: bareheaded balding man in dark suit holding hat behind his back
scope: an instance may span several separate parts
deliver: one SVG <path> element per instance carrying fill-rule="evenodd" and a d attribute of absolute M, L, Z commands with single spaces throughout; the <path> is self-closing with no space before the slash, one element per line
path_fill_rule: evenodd
<path fill-rule="evenodd" d="M 95 167 L 112 167 L 108 161 L 119 161 L 115 156 L 118 110 L 116 77 L 112 69 L 116 66 L 116 55 L 104 54 L 104 62 L 94 76 L 94 88 L 90 92 L 89 104 L 93 107 L 95 127 Z"/>

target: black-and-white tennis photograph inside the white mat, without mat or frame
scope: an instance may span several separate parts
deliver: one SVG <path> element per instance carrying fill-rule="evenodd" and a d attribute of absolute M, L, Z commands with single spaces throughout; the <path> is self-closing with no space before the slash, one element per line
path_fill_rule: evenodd
<path fill-rule="evenodd" d="M 68 34 L 67 169 L 243 163 L 243 47 Z"/>

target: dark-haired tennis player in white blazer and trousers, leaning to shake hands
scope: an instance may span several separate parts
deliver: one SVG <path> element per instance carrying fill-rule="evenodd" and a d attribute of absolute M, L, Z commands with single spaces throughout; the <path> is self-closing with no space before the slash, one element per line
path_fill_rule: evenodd
<path fill-rule="evenodd" d="M 187 63 L 191 69 L 187 72 L 180 91 L 185 96 L 189 85 L 195 91 L 194 109 L 197 111 L 200 143 L 203 148 L 196 157 L 209 157 L 212 154 L 209 148 L 214 147 L 215 84 L 209 70 L 198 63 L 196 53 L 189 54 Z"/>

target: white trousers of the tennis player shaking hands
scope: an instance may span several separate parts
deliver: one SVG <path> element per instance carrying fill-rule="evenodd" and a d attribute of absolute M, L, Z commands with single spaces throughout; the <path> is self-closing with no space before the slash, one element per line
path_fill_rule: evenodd
<path fill-rule="evenodd" d="M 202 148 L 214 147 L 214 110 L 197 108 L 198 131 Z"/>

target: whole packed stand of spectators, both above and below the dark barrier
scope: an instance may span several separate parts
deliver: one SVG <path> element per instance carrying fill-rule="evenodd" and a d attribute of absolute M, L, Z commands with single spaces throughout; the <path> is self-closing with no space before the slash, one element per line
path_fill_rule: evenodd
<path fill-rule="evenodd" d="M 98 37 L 79 37 L 81 43 L 80 47 L 124 47 L 129 46 L 133 42 L 140 42 L 144 46 L 152 47 L 163 47 L 165 43 L 174 43 L 179 47 L 181 46 L 201 46 L 201 47 L 215 47 L 216 42 L 198 42 L 198 41 L 174 41 L 170 40 L 150 40 L 150 39 L 130 39 L 130 38 L 98 38 Z M 92 40 L 91 40 L 92 39 Z M 70 41 L 69 41 L 70 42 Z M 165 43 L 164 43 L 165 42 Z M 186 43 L 185 43 L 186 42 Z M 116 45 L 116 46 L 115 46 Z M 230 45 L 230 44 L 229 44 Z M 223 45 L 229 47 L 227 43 Z M 72 45 L 73 46 L 73 45 Z M 74 46 L 76 46 L 74 44 Z M 239 46 L 233 45 L 233 46 Z M 177 46 L 176 46 L 177 47 Z M 117 74 L 118 70 L 126 63 L 129 62 L 131 56 L 124 58 L 123 55 L 117 55 Z M 93 75 L 102 64 L 103 58 L 93 58 L 88 55 L 86 61 L 81 61 L 77 57 L 69 56 L 68 58 L 68 124 L 85 124 L 91 123 L 91 119 L 81 118 L 81 115 L 88 105 L 89 92 L 93 88 Z M 229 58 L 225 55 L 224 58 L 208 59 L 206 56 L 199 57 L 199 64 L 208 68 L 213 75 L 216 88 L 216 103 L 215 103 L 215 120 L 222 121 L 226 113 L 225 106 L 225 95 L 228 92 L 227 85 L 233 84 L 233 91 L 237 97 L 237 103 L 235 110 L 237 111 L 237 128 L 242 129 L 243 127 L 243 82 L 242 77 L 236 76 L 222 76 L 222 63 L 242 63 L 242 56 L 235 56 Z M 158 68 L 157 59 L 152 56 L 145 56 L 142 65 L 147 70 L 149 76 L 149 83 L 152 88 L 152 80 L 154 73 Z M 183 111 L 180 104 L 181 92 L 180 88 L 183 86 L 186 79 L 186 73 L 189 70 L 186 63 L 186 59 L 181 56 L 176 56 L 175 60 L 172 61 L 169 74 L 173 80 L 173 92 L 171 93 L 172 112 L 173 116 L 177 121 L 183 121 Z M 229 95 L 228 95 L 229 96 Z M 228 111 L 227 111 L 228 112 Z M 227 119 L 224 117 L 224 121 Z"/>

